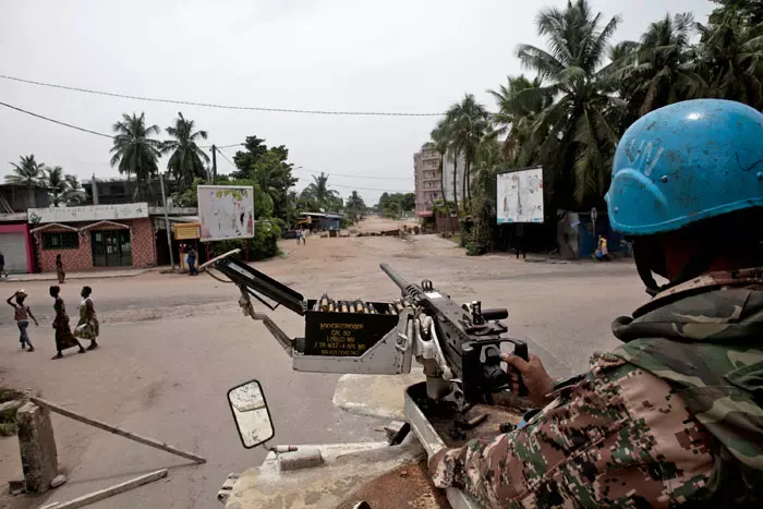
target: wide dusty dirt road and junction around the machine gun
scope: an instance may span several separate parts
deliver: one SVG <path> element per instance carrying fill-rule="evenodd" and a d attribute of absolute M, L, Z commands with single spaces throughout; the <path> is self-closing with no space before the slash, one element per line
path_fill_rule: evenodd
<path fill-rule="evenodd" d="M 324 291 L 344 299 L 397 296 L 397 288 L 378 269 L 387 262 L 409 280 L 431 279 L 459 301 L 479 298 L 486 307 L 508 306 L 511 334 L 529 339 L 531 351 L 560 376 L 584 368 L 593 350 L 615 346 L 609 323 L 645 296 L 629 264 L 472 258 L 434 235 L 410 241 L 310 238 L 303 246 L 286 241 L 282 250 L 283 256 L 256 266 L 305 296 Z M 266 391 L 277 444 L 383 438 L 374 431 L 378 421 L 332 407 L 337 376 L 291 371 L 290 360 L 264 327 L 241 315 L 233 286 L 206 276 L 161 274 L 87 284 L 101 319 L 102 347 L 51 361 L 48 283 L 26 283 L 28 303 L 41 318 L 40 327 L 31 329 L 37 351 L 19 349 L 11 310 L 0 313 L 2 383 L 37 389 L 72 410 L 195 451 L 208 463 L 184 465 L 185 460 L 55 417 L 60 463 L 71 481 L 35 498 L 32 507 L 164 466 L 173 466 L 166 481 L 92 507 L 221 507 L 215 497 L 228 473 L 264 457 L 262 450 L 241 447 L 226 400 L 230 387 L 251 378 L 259 379 Z M 62 291 L 72 315 L 78 288 L 72 281 Z M 0 284 L 0 296 L 13 290 Z M 278 310 L 275 318 L 287 332 L 301 334 L 296 315 Z M 15 439 L 0 440 L 0 471 L 13 465 L 8 440 Z"/>

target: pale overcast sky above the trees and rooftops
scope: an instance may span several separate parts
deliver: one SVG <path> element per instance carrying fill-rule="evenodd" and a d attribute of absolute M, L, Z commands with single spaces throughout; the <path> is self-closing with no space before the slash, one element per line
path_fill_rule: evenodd
<path fill-rule="evenodd" d="M 541 45 L 535 16 L 566 1 L 131 0 L 4 1 L 0 74 L 131 95 L 290 109 L 439 112 L 522 72 L 520 43 Z M 705 22 L 708 0 L 591 0 L 616 40 L 635 39 L 666 12 Z M 286 145 L 302 189 L 330 173 L 342 196 L 413 190 L 413 153 L 436 118 L 330 117 L 144 102 L 0 80 L 0 101 L 95 131 L 122 112 L 170 125 L 180 110 L 209 144 L 247 135 Z M 81 178 L 117 177 L 107 138 L 0 107 L 0 174 L 34 154 Z M 234 148 L 225 150 L 232 158 Z M 166 161 L 161 161 L 164 168 Z M 218 158 L 219 171 L 232 168 Z M 339 177 L 336 173 L 359 177 Z M 393 179 L 372 179 L 378 177 Z"/>

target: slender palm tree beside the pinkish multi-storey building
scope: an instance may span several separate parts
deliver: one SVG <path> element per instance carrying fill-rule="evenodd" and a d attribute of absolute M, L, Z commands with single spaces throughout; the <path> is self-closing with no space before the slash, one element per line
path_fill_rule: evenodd
<path fill-rule="evenodd" d="M 474 95 L 467 94 L 461 102 L 448 109 L 445 118 L 449 125 L 451 145 L 457 154 L 461 153 L 464 157 L 462 196 L 468 203 L 471 197 L 471 165 L 480 142 L 489 126 L 489 114 L 485 107 L 476 101 Z"/>

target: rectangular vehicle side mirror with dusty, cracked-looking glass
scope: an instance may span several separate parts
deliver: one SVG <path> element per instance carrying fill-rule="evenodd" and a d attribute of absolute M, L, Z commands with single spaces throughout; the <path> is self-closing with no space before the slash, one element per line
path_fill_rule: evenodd
<path fill-rule="evenodd" d="M 230 389 L 228 403 L 233 413 L 241 444 L 246 449 L 265 444 L 276 435 L 259 381 L 250 380 Z"/>

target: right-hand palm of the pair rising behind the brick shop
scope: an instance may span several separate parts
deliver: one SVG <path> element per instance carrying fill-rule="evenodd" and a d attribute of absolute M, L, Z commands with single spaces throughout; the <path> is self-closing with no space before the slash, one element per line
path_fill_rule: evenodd
<path fill-rule="evenodd" d="M 207 132 L 194 132 L 194 126 L 195 122 L 186 120 L 179 111 L 174 125 L 166 129 L 167 134 L 174 140 L 168 140 L 161 144 L 162 154 L 172 154 L 167 161 L 167 169 L 174 175 L 181 187 L 190 187 L 195 178 L 207 177 L 204 163 L 209 162 L 209 156 L 196 145 L 199 138 L 207 138 Z"/>

